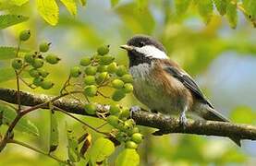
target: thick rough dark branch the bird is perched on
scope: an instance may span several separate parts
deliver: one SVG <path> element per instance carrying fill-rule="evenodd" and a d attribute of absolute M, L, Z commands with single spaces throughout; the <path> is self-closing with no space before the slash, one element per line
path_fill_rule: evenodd
<path fill-rule="evenodd" d="M 24 106 L 35 106 L 53 98 L 54 97 L 47 95 L 34 95 L 27 92 L 20 92 L 20 103 Z M 17 91 L 14 89 L 0 88 L 0 100 L 17 104 Z M 89 115 L 84 112 L 83 106 L 78 101 L 70 99 L 59 99 L 53 104 L 56 107 L 63 109 L 67 113 Z M 41 108 L 48 109 L 48 104 L 42 105 Z M 99 107 L 99 109 L 101 109 L 101 107 Z M 184 127 L 179 124 L 177 118 L 166 117 L 164 115 L 149 113 L 145 111 L 132 113 L 132 118 L 137 125 L 144 125 L 159 129 L 154 133 L 155 136 L 170 133 L 182 133 L 204 136 L 236 136 L 240 139 L 256 140 L 256 126 L 253 125 L 238 125 L 216 121 L 189 120 L 188 124 Z"/>

